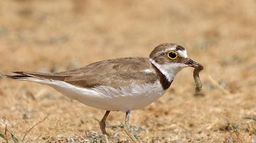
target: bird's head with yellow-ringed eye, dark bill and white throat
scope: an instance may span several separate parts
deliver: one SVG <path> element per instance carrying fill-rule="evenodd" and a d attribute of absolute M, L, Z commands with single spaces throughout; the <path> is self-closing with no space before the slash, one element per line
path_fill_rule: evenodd
<path fill-rule="evenodd" d="M 202 65 L 188 58 L 187 50 L 181 45 L 160 44 L 149 55 L 149 61 L 155 65 L 169 81 L 184 67 L 202 69 Z"/>

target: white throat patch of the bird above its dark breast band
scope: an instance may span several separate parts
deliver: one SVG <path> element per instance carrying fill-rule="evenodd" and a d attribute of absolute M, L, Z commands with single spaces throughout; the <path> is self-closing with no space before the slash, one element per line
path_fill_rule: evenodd
<path fill-rule="evenodd" d="M 157 62 L 155 62 L 154 59 L 151 58 L 149 58 L 149 61 L 151 62 L 151 64 L 155 65 L 155 67 L 157 67 L 158 70 L 160 70 L 163 73 L 163 75 L 166 76 L 169 82 L 172 82 L 174 76 L 176 76 L 176 74 L 182 69 L 182 67 L 184 67 L 184 65 L 180 63 L 160 65 L 157 64 Z"/>

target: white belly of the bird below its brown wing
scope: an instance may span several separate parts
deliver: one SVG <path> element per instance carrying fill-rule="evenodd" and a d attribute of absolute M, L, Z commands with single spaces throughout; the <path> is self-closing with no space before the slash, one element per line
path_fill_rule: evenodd
<path fill-rule="evenodd" d="M 137 110 L 151 104 L 165 93 L 159 81 L 119 89 L 106 86 L 82 88 L 63 81 L 51 81 L 50 86 L 68 98 L 110 111 Z"/>

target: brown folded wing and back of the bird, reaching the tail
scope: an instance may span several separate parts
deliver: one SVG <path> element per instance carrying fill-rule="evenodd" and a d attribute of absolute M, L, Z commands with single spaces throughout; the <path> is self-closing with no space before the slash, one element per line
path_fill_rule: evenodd
<path fill-rule="evenodd" d="M 68 82 L 79 87 L 95 87 L 106 85 L 111 87 L 124 87 L 130 84 L 149 84 L 157 81 L 155 72 L 146 73 L 144 70 L 154 71 L 147 58 L 119 58 L 95 62 L 76 70 L 60 73 L 34 73 L 15 71 L 20 75 L 9 78 L 35 78 L 54 79 Z"/>

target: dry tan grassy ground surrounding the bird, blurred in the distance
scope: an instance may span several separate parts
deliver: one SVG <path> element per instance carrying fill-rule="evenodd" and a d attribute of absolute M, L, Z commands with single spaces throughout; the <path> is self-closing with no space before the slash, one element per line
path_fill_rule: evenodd
<path fill-rule="evenodd" d="M 194 96 L 193 69 L 182 70 L 165 96 L 132 111 L 140 141 L 256 142 L 255 18 L 255 0 L 0 1 L 0 72 L 68 70 L 176 42 L 204 65 L 204 89 Z M 26 133 L 24 142 L 100 142 L 103 115 L 44 85 L 0 79 L 9 142 L 11 132 L 20 142 Z M 110 113 L 113 142 L 131 142 L 123 121 Z"/>

